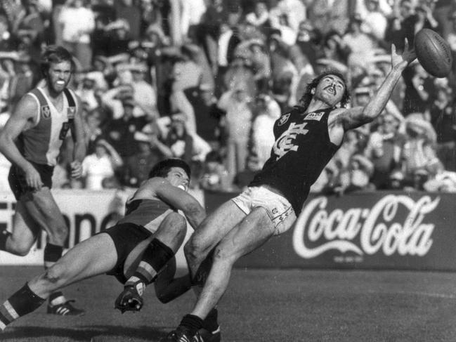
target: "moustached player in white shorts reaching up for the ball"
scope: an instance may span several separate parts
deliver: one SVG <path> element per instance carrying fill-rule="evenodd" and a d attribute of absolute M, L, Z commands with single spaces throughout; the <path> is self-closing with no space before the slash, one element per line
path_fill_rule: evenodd
<path fill-rule="evenodd" d="M 226 291 L 235 261 L 292 226 L 344 133 L 379 116 L 401 73 L 415 58 L 407 41 L 402 55 L 392 46 L 391 71 L 365 107 L 344 108 L 348 91 L 337 72 L 325 72 L 308 84 L 299 105 L 275 121 L 271 157 L 249 188 L 207 216 L 185 244 L 190 274 L 201 292 L 193 311 L 162 341 L 191 341 Z M 211 252 L 207 273 L 200 266 Z"/>

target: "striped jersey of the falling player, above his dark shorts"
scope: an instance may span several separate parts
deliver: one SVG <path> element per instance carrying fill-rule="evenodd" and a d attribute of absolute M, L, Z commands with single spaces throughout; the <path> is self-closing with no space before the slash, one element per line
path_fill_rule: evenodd
<path fill-rule="evenodd" d="M 119 223 L 134 223 L 155 232 L 163 219 L 175 211 L 159 199 L 133 199 L 125 204 L 125 216 Z"/>

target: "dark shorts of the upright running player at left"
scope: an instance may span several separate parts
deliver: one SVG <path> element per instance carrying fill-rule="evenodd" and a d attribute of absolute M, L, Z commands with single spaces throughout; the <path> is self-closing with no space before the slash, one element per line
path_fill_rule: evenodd
<path fill-rule="evenodd" d="M 33 167 L 38 171 L 39 176 L 41 177 L 41 182 L 43 182 L 43 186 L 51 189 L 54 166 L 36 164 L 34 162 L 30 162 L 30 164 L 32 164 Z M 11 191 L 13 191 L 15 199 L 17 200 L 21 199 L 22 196 L 35 191 L 34 188 L 31 188 L 27 185 L 24 171 L 15 165 L 12 165 L 10 168 L 10 172 L 8 174 L 8 183 L 10 185 Z"/>

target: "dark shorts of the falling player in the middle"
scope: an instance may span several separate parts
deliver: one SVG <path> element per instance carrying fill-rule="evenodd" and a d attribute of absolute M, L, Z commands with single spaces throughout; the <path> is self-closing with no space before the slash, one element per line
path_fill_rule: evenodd
<path fill-rule="evenodd" d="M 98 234 L 107 233 L 115 244 L 117 251 L 117 263 L 112 270 L 106 272 L 107 275 L 114 275 L 119 282 L 124 284 L 124 264 L 130 252 L 142 241 L 150 237 L 152 232 L 145 229 L 142 225 L 134 223 L 120 223 Z"/>

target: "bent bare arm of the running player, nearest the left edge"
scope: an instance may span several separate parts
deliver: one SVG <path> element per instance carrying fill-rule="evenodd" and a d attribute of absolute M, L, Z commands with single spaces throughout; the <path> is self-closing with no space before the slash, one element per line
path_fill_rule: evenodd
<path fill-rule="evenodd" d="M 38 104 L 32 96 L 24 96 L 0 132 L 0 152 L 25 172 L 27 185 L 39 189 L 42 182 L 36 169 L 22 157 L 15 140 L 22 131 L 30 129 L 37 121 Z"/>

